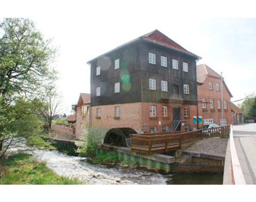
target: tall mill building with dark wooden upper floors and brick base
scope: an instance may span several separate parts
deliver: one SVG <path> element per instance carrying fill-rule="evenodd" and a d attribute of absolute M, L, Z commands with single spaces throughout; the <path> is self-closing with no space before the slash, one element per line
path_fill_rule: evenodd
<path fill-rule="evenodd" d="M 199 59 L 155 30 L 89 61 L 92 126 L 138 133 L 196 127 Z"/>

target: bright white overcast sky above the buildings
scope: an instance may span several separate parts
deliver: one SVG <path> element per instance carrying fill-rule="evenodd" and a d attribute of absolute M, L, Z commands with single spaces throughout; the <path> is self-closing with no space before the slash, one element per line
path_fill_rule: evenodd
<path fill-rule="evenodd" d="M 231 101 L 256 93 L 256 18 L 30 19 L 57 47 L 57 88 L 66 114 L 80 93 L 90 93 L 89 60 L 155 29 L 199 55 L 197 64 L 223 72 Z"/>

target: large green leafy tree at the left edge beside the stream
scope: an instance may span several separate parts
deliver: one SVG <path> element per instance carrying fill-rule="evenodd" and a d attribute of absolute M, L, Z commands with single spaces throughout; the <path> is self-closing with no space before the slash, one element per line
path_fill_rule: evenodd
<path fill-rule="evenodd" d="M 56 50 L 28 18 L 0 19 L 0 158 L 16 135 L 35 134 L 42 84 L 54 79 L 49 68 Z M 5 144 L 6 145 L 6 144 Z"/>

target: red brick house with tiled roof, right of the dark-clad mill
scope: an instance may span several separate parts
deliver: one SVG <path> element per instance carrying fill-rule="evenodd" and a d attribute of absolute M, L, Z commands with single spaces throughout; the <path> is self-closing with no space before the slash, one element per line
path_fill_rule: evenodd
<path fill-rule="evenodd" d="M 230 99 L 233 97 L 223 79 L 223 103 L 221 102 L 221 76 L 206 64 L 197 65 L 198 108 L 202 117 L 200 126 L 232 124 Z M 223 108 L 223 119 L 221 109 Z"/>

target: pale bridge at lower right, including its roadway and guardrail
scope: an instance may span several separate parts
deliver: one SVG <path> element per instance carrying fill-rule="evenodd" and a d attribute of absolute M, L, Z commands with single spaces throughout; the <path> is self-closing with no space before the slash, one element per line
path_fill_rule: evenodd
<path fill-rule="evenodd" d="M 223 184 L 256 185 L 255 153 L 256 123 L 232 126 Z"/>

